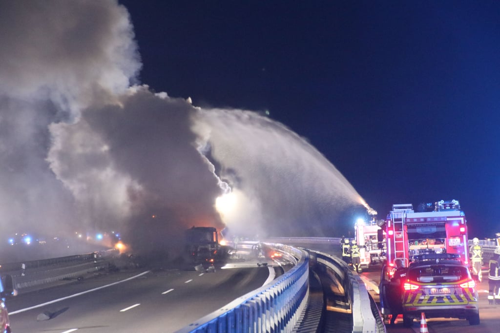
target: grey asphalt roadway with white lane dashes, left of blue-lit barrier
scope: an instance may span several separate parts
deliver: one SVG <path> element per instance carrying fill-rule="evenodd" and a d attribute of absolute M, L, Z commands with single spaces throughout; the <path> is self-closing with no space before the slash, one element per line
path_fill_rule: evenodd
<path fill-rule="evenodd" d="M 260 287 L 267 267 L 218 269 L 215 272 L 140 270 L 103 274 L 12 297 L 8 309 L 14 333 L 170 332 Z M 24 310 L 48 301 L 57 302 Z M 47 320 L 38 318 L 50 317 Z M 43 318 L 42 318 L 43 319 Z"/>

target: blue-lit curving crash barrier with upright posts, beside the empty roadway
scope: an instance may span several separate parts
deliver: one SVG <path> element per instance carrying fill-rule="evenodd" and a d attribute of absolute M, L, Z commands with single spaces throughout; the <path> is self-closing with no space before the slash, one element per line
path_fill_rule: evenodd
<path fill-rule="evenodd" d="M 265 245 L 296 260 L 295 266 L 177 332 L 291 332 L 309 295 L 308 255 L 288 245 Z"/>

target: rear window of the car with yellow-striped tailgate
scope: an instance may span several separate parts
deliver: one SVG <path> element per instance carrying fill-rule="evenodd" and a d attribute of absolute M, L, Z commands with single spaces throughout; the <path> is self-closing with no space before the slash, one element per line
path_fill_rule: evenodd
<path fill-rule="evenodd" d="M 469 277 L 464 266 L 431 265 L 409 269 L 408 278 L 418 282 L 453 282 Z"/>

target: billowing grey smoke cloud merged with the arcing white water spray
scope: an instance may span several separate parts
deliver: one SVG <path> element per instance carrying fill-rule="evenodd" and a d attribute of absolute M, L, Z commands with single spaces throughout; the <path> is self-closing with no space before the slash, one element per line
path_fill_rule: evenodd
<path fill-rule="evenodd" d="M 133 38 L 115 0 L 0 2 L 3 234 L 116 230 L 154 251 L 191 225 L 331 235 L 362 202 L 283 125 L 137 85 Z M 229 191 L 232 210 L 217 211 Z"/>

